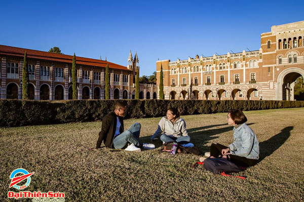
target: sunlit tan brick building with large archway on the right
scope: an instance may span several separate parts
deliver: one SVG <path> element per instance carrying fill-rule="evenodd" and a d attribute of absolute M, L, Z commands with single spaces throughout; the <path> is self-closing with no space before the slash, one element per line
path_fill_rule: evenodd
<path fill-rule="evenodd" d="M 304 21 L 272 26 L 256 51 L 157 61 L 165 99 L 294 100 L 304 76 Z M 159 79 L 157 82 L 159 87 Z"/>

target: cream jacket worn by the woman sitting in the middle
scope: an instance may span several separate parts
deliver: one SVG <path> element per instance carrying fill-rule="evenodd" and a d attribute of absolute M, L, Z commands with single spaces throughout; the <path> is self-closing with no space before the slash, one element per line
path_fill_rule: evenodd
<path fill-rule="evenodd" d="M 171 120 L 168 120 L 167 116 L 162 117 L 151 140 L 158 138 L 162 133 L 171 137 L 188 136 L 184 119 L 178 118 L 173 124 Z"/>

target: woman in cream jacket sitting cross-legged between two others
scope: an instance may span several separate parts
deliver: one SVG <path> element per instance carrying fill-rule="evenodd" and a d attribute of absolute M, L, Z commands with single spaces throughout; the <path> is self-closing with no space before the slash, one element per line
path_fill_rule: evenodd
<path fill-rule="evenodd" d="M 177 108 L 169 108 L 167 110 L 167 116 L 162 117 L 158 128 L 154 135 L 151 137 L 151 140 L 157 139 L 161 135 L 161 140 L 163 143 L 165 142 L 177 142 L 177 143 L 185 143 L 182 146 L 189 146 L 190 137 L 188 136 L 186 130 L 185 120 L 182 119 L 180 113 Z"/>

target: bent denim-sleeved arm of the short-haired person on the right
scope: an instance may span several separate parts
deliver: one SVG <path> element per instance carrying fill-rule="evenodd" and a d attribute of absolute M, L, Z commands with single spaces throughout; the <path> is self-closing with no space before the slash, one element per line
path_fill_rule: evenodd
<path fill-rule="evenodd" d="M 229 145 L 230 153 L 238 156 L 248 156 L 251 152 L 254 135 L 250 132 L 245 131 L 241 136 L 242 146 L 241 148 L 237 148 L 234 143 Z"/>

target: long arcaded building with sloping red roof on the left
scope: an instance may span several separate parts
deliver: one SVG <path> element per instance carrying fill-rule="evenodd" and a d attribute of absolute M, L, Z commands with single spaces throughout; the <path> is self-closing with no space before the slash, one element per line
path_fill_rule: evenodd
<path fill-rule="evenodd" d="M 0 98 L 22 98 L 22 68 L 27 53 L 29 97 L 32 100 L 72 99 L 72 58 L 55 54 L 0 45 Z M 110 70 L 110 98 L 134 99 L 135 75 L 139 71 L 137 53 L 128 66 L 106 60 L 76 57 L 78 99 L 104 99 L 105 67 Z M 140 99 L 157 98 L 156 85 L 140 84 Z"/>

